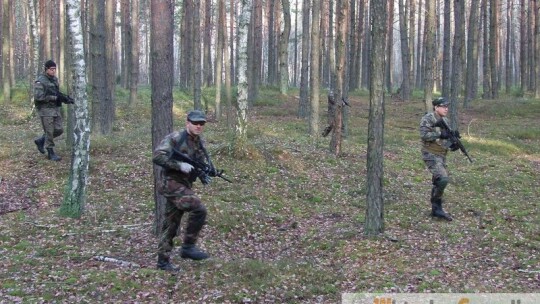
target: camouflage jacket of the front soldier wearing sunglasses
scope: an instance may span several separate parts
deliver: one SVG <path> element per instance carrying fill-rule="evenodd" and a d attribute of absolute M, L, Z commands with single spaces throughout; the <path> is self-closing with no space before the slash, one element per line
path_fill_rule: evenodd
<path fill-rule="evenodd" d="M 163 167 L 163 178 L 173 179 L 191 188 L 197 176 L 180 171 L 180 162 L 170 157 L 173 148 L 188 155 L 193 160 L 206 163 L 204 141 L 200 136 L 189 135 L 186 130 L 177 131 L 165 136 L 154 150 L 153 162 Z M 192 171 L 192 173 L 195 172 Z"/>

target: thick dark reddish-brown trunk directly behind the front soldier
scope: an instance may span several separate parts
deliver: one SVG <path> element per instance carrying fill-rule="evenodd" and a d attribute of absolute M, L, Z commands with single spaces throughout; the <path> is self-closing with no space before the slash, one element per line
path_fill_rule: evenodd
<path fill-rule="evenodd" d="M 152 150 L 173 129 L 174 0 L 151 0 Z M 165 198 L 158 193 L 161 167 L 154 165 L 155 232 L 161 231 Z"/>

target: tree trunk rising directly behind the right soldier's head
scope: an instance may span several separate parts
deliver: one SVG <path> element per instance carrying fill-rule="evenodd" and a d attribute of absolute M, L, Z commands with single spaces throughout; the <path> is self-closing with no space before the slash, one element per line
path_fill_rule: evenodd
<path fill-rule="evenodd" d="M 424 26 L 425 36 L 425 72 L 424 72 L 424 110 L 425 112 L 432 111 L 431 100 L 433 99 L 433 86 L 435 83 L 435 61 L 436 61 L 436 48 L 435 48 L 435 3 L 432 1 L 426 1 L 426 25 Z"/>

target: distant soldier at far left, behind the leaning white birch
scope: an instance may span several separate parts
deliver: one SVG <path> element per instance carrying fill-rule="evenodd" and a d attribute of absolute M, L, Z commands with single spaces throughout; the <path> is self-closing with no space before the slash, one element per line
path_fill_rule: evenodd
<path fill-rule="evenodd" d="M 34 102 L 43 126 L 43 136 L 36 138 L 36 144 L 40 153 L 45 154 L 53 161 L 62 158 L 54 153 L 54 138 L 64 133 L 62 119 L 62 103 L 58 99 L 59 85 L 56 78 L 56 63 L 49 60 L 45 62 L 45 71 L 34 82 Z"/>

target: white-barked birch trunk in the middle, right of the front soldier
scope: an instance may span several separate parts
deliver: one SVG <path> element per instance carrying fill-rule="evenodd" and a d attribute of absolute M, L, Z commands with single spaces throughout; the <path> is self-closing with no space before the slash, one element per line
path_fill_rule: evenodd
<path fill-rule="evenodd" d="M 236 154 L 244 155 L 247 150 L 247 112 L 248 112 L 248 82 L 246 79 L 247 40 L 249 20 L 253 9 L 252 0 L 240 0 L 240 17 L 238 20 L 238 109 L 235 129 L 234 150 Z"/>

